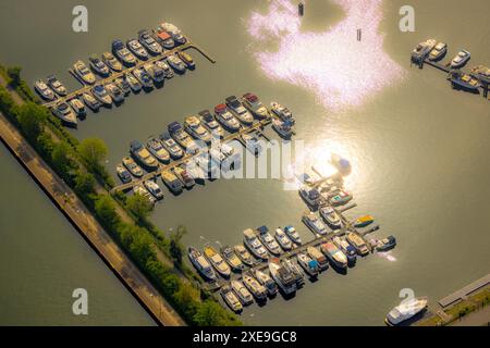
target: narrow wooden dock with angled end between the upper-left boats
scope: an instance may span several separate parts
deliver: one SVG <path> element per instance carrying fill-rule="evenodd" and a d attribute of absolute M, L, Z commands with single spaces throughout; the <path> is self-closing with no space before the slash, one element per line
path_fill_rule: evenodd
<path fill-rule="evenodd" d="M 188 50 L 188 49 L 195 49 L 197 52 L 203 54 L 203 57 L 205 57 L 209 62 L 211 62 L 212 64 L 216 63 L 216 60 L 210 54 L 208 54 L 198 45 L 194 44 L 187 36 L 186 36 L 186 39 L 187 39 L 187 41 L 185 44 L 183 44 L 181 46 L 177 46 L 177 47 L 175 47 L 175 48 L 173 48 L 173 49 L 171 49 L 169 51 L 164 51 L 164 52 L 162 52 L 159 55 L 150 57 L 147 60 L 138 60 L 137 63 L 134 66 L 123 69 L 121 72 L 112 72 L 108 77 L 98 79 L 94 85 L 85 85 L 74 73 L 71 72 L 71 70 L 69 70 L 69 72 L 81 84 L 83 84 L 84 87 L 68 94 L 65 97 L 58 97 L 53 101 L 45 102 L 44 105 L 47 107 L 47 108 L 52 108 L 53 105 L 56 105 L 57 103 L 59 103 L 61 101 L 68 101 L 70 99 L 77 98 L 77 97 L 82 96 L 84 92 L 89 91 L 96 85 L 109 84 L 109 83 L 115 80 L 117 78 L 122 77 L 122 76 L 131 73 L 133 70 L 144 66 L 145 64 L 155 63 L 156 61 L 162 60 L 162 59 L 164 59 L 164 58 L 167 58 L 167 57 L 169 57 L 171 54 L 174 54 L 174 53 L 177 53 L 177 52 L 181 52 L 181 51 L 185 51 L 185 50 Z"/>

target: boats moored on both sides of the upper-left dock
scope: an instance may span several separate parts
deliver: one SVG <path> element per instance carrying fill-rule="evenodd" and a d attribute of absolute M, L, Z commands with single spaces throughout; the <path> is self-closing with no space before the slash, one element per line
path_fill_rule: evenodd
<path fill-rule="evenodd" d="M 193 58 L 184 51 L 158 59 L 168 49 L 185 41 L 176 26 L 162 23 L 155 30 L 139 30 L 138 38 L 130 39 L 125 45 L 121 40 L 114 40 L 112 52 L 105 52 L 101 57 L 90 55 L 88 66 L 85 62 L 77 61 L 72 69 L 73 75 L 84 85 L 94 86 L 77 97 L 64 101 L 63 98 L 69 96 L 68 89 L 54 75 L 48 76 L 46 80 L 36 80 L 34 88 L 45 101 L 60 100 L 53 108 L 53 114 L 65 125 L 76 126 L 77 117 L 86 115 L 85 107 L 97 111 L 102 105 L 120 104 L 131 91 L 139 92 L 142 89 L 159 87 L 166 78 L 173 77 L 174 73 L 182 74 L 187 69 L 194 69 Z M 157 60 L 145 63 L 152 55 Z M 125 67 L 128 67 L 126 73 Z M 119 77 L 105 83 L 112 74 L 121 72 L 123 73 Z M 97 76 L 102 79 L 99 80 Z"/>

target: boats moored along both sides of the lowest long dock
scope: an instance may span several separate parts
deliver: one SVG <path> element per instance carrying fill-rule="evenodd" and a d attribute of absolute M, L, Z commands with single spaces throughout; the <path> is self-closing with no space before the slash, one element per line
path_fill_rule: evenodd
<path fill-rule="evenodd" d="M 275 234 L 266 226 L 243 232 L 243 245 L 222 247 L 219 251 L 206 245 L 201 253 L 194 247 L 188 248 L 188 258 L 196 270 L 208 281 L 217 281 L 218 275 L 230 278 L 232 272 L 241 272 L 242 279 L 232 279 L 230 285 L 221 287 L 221 296 L 226 304 L 236 312 L 243 306 L 266 301 L 278 290 L 291 296 L 305 283 L 305 275 L 316 278 L 329 264 L 340 272 L 353 266 L 357 254 L 366 254 L 358 249 L 357 235 L 352 233 L 345 238 L 335 236 L 322 240 L 319 247 L 307 246 L 294 258 L 280 259 L 283 252 L 302 245 L 302 239 L 293 226 L 278 227 Z M 357 236 L 357 237 L 356 237 Z M 267 270 L 255 268 L 267 261 Z M 296 262 L 294 262 L 296 261 Z M 303 271 L 302 271 L 303 270 Z M 269 271 L 269 272 L 267 272 Z"/>

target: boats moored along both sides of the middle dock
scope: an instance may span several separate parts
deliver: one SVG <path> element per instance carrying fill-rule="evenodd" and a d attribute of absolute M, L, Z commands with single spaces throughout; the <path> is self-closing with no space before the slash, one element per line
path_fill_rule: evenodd
<path fill-rule="evenodd" d="M 283 124 L 294 124 L 291 111 L 278 102 L 272 102 L 269 110 L 257 96 L 250 92 L 245 94 L 242 98 L 230 96 L 225 98 L 224 103 L 215 107 L 213 113 L 203 110 L 196 115 L 185 117 L 183 124 L 172 122 L 166 132 L 159 136 L 149 137 L 145 145 L 139 140 L 133 140 L 130 144 L 131 157 L 124 158 L 117 167 L 118 176 L 123 183 L 128 183 L 133 181 L 133 177 L 142 177 L 144 170 L 155 171 L 161 164 L 169 164 L 171 160 L 180 160 L 186 153 L 192 153 L 196 154 L 193 163 L 173 167 L 174 176 L 177 178 L 184 176 L 185 181 L 181 179 L 181 182 L 184 182 L 183 185 L 189 188 L 188 186 L 192 187 L 194 184 L 187 176 L 194 181 L 218 177 L 215 172 L 220 169 L 223 161 L 232 158 L 233 164 L 240 162 L 233 147 L 225 142 L 216 141 L 208 148 L 213 138 L 221 139 L 225 136 L 225 130 L 229 134 L 237 133 L 250 127 L 257 121 L 269 119 L 272 119 L 273 125 L 280 124 L 278 129 L 282 128 Z M 287 127 L 291 128 L 291 126 Z M 254 154 L 257 156 L 261 152 L 257 135 L 245 132 L 240 135 L 240 139 Z M 174 194 L 182 191 L 182 185 L 175 184 L 177 181 L 172 177 L 171 171 L 163 173 L 162 178 L 166 185 Z M 169 185 L 169 183 L 173 184 Z"/>

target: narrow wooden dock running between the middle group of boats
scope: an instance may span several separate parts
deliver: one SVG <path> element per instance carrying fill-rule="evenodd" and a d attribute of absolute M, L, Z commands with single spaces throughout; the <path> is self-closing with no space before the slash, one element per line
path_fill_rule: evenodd
<path fill-rule="evenodd" d="M 238 130 L 236 133 L 233 133 L 233 134 L 230 134 L 229 136 L 224 137 L 221 140 L 221 142 L 222 144 L 226 144 L 226 142 L 232 141 L 232 140 L 240 140 L 242 142 L 242 139 L 241 139 L 242 135 L 249 134 L 249 133 L 253 133 L 253 132 L 257 132 L 260 136 L 265 137 L 265 135 L 260 130 L 264 127 L 266 127 L 267 125 L 269 125 L 270 123 L 271 123 L 271 119 L 257 121 L 252 126 L 244 127 L 241 130 Z M 266 137 L 266 139 L 267 139 L 267 137 Z M 125 191 L 125 190 L 132 189 L 133 187 L 143 184 L 143 182 L 156 178 L 157 176 L 161 175 L 161 173 L 164 172 L 164 171 L 172 170 L 175 166 L 179 166 L 179 165 L 181 165 L 183 163 L 186 163 L 187 161 L 191 161 L 193 158 L 199 156 L 200 153 L 201 153 L 201 151 L 197 151 L 196 153 L 187 153 L 182 159 L 173 161 L 173 162 L 171 162 L 171 163 L 169 163 L 167 165 L 160 164 L 159 167 L 156 171 L 149 172 L 148 174 L 144 175 L 139 179 L 133 178 L 133 181 L 131 181 L 130 183 L 122 184 L 122 185 L 113 187 L 111 192 Z"/>

